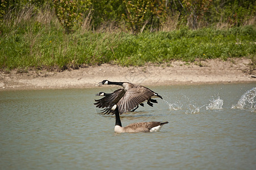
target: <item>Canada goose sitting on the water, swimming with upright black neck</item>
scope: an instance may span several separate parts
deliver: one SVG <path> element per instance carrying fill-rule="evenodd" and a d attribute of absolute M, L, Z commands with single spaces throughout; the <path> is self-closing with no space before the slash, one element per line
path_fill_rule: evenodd
<path fill-rule="evenodd" d="M 114 114 L 116 117 L 115 124 L 115 133 L 136 133 L 136 132 L 153 132 L 160 131 L 164 124 L 168 124 L 169 122 L 138 122 L 134 124 L 130 124 L 128 126 L 122 127 L 121 120 L 119 116 L 119 109 L 115 104 L 111 110 L 114 110 Z"/>

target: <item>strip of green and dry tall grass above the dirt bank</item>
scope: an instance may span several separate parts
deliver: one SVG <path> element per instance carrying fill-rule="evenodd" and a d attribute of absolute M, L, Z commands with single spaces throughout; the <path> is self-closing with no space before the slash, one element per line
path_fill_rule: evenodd
<path fill-rule="evenodd" d="M 255 56 L 256 28 L 188 28 L 144 32 L 88 31 L 84 27 L 70 35 L 58 23 L 51 8 L 37 13 L 33 8 L 10 14 L 2 24 L 0 67 L 11 69 L 69 69 L 111 63 L 142 66 L 145 63 L 192 62 L 209 59 Z"/>

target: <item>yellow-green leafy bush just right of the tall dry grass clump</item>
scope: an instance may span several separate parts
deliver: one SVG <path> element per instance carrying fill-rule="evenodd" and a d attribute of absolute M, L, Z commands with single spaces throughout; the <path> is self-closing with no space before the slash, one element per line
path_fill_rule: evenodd
<path fill-rule="evenodd" d="M 65 28 L 66 33 L 72 32 L 74 26 L 82 25 L 82 13 L 79 11 L 81 1 L 78 0 L 54 0 L 54 8 L 58 20 Z"/>

